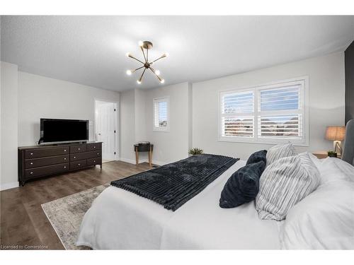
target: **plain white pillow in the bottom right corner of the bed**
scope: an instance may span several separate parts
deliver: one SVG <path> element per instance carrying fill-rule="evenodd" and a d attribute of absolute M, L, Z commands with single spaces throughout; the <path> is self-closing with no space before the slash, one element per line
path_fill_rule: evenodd
<path fill-rule="evenodd" d="M 282 249 L 354 249 L 354 182 L 319 186 L 287 213 Z"/>

